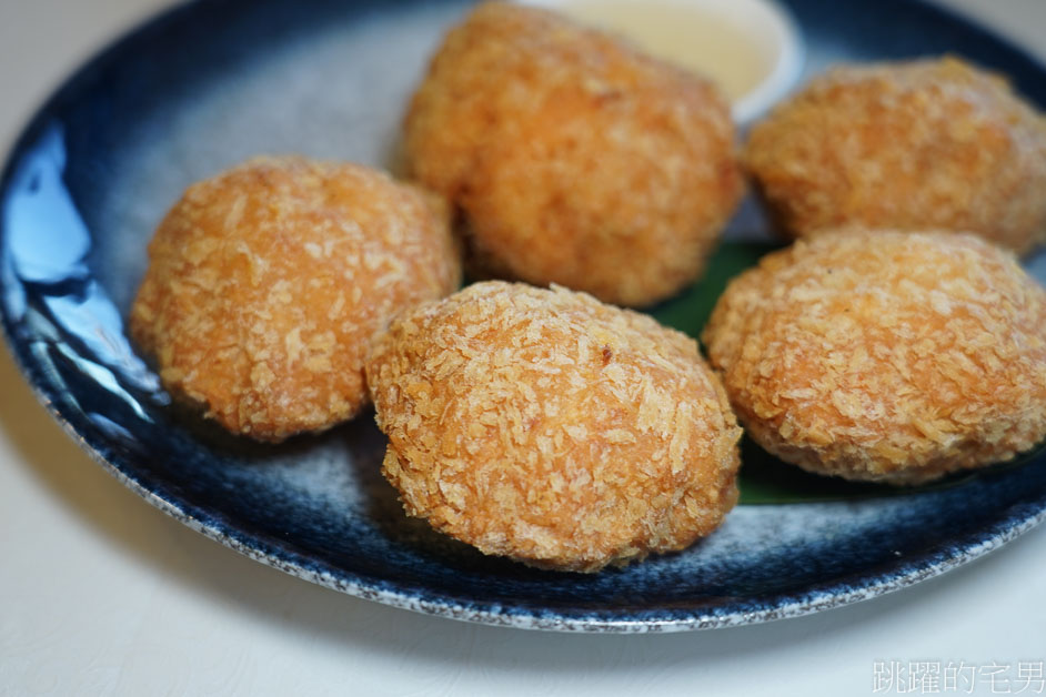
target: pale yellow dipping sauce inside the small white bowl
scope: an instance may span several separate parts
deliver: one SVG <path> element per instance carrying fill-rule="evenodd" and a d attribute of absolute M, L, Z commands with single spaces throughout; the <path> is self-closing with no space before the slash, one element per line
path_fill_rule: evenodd
<path fill-rule="evenodd" d="M 556 9 L 579 22 L 617 33 L 662 60 L 715 81 L 732 101 L 771 72 L 772 55 L 754 46 L 737 20 L 690 3 L 567 0 Z"/>

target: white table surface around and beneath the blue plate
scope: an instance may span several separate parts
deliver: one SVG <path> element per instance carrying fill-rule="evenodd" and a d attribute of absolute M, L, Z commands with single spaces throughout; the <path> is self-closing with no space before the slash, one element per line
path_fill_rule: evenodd
<path fill-rule="evenodd" d="M 70 70 L 168 4 L 0 0 L 4 151 Z M 946 4 L 1046 61 L 1046 0 Z M 165 517 L 89 459 L 0 352 L 0 695 L 861 695 L 894 660 L 942 678 L 973 666 L 978 694 L 1035 694 L 1018 673 L 1046 659 L 1044 589 L 1046 526 L 898 593 L 735 629 L 586 636 L 416 615 Z M 989 683 L 993 665 L 1008 684 Z"/>

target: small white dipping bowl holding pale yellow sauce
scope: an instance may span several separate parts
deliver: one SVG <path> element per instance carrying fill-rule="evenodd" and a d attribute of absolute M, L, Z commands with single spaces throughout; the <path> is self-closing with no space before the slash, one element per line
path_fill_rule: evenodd
<path fill-rule="evenodd" d="M 520 0 L 618 33 L 704 74 L 731 99 L 734 120 L 762 115 L 795 84 L 803 42 L 773 0 Z"/>

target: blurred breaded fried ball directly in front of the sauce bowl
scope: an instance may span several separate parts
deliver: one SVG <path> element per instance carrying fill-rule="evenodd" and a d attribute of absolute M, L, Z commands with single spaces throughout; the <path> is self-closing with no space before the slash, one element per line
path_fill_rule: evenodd
<path fill-rule="evenodd" d="M 405 120 L 411 173 L 453 200 L 483 273 L 624 305 L 704 267 L 743 190 L 707 81 L 552 12 L 453 29 Z"/>

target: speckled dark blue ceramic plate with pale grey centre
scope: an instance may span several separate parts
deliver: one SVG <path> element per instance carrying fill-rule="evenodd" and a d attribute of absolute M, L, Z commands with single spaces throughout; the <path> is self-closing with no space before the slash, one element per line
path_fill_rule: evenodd
<path fill-rule="evenodd" d="M 1046 104 L 1042 67 L 929 6 L 788 4 L 807 73 L 842 59 L 953 51 L 1005 71 Z M 815 496 L 791 469 L 764 463 L 746 468 L 747 501 L 768 492 L 763 501 L 792 503 L 741 505 L 682 554 L 594 576 L 546 573 L 408 519 L 379 474 L 383 436 L 369 415 L 263 447 L 172 407 L 122 321 L 167 208 L 190 182 L 263 152 L 389 165 L 405 100 L 464 10 L 192 2 L 91 61 L 33 119 L 0 184 L 3 329 L 41 400 L 99 463 L 190 527 L 295 576 L 399 607 L 542 629 L 697 629 L 817 612 L 939 574 L 1044 517 L 1042 454 L 904 495 L 822 485 Z M 731 235 L 764 229 L 748 206 Z M 723 253 L 741 259 L 745 249 Z M 660 316 L 694 331 L 714 293 L 701 286 Z"/>

